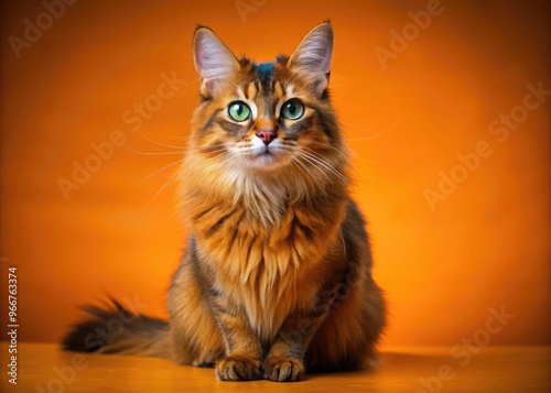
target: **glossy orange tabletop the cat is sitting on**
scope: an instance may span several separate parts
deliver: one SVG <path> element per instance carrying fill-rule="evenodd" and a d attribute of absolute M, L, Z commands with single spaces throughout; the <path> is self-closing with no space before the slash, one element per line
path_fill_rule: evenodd
<path fill-rule="evenodd" d="M 8 345 L 1 346 L 2 364 Z M 486 347 L 452 357 L 446 347 L 386 350 L 372 370 L 310 374 L 295 383 L 219 382 L 212 369 L 163 359 L 65 352 L 53 343 L 18 345 L 17 385 L 2 392 L 549 392 L 551 347 Z M 465 352 L 466 353 L 466 352 Z M 3 365 L 4 370 L 7 365 Z M 8 375 L 9 378 L 9 375 Z"/>

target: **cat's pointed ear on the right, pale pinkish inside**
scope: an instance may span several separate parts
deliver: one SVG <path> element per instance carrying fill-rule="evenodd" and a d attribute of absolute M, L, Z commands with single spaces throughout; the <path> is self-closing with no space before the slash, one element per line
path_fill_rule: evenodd
<path fill-rule="evenodd" d="M 321 95 L 329 83 L 333 55 L 333 26 L 325 21 L 306 34 L 289 59 L 291 70 L 311 80 Z"/>

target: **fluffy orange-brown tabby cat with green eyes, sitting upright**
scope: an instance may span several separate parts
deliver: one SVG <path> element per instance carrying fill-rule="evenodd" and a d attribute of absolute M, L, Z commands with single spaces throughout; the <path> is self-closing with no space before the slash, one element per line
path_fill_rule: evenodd
<path fill-rule="evenodd" d="M 89 307 L 64 348 L 214 367 L 223 381 L 360 368 L 386 306 L 329 100 L 331 22 L 273 63 L 237 59 L 201 25 L 193 50 L 199 99 L 181 168 L 191 234 L 170 321 Z M 91 342 L 114 320 L 120 331 Z"/>

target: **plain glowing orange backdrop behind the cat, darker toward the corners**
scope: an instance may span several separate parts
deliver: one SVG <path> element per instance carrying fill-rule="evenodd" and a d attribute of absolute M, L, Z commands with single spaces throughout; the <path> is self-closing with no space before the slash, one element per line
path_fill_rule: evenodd
<path fill-rule="evenodd" d="M 190 132 L 195 24 L 212 26 L 237 55 L 269 61 L 331 18 L 334 103 L 390 309 L 383 346 L 458 343 L 501 306 L 515 318 L 491 345 L 549 343 L 550 97 L 506 141 L 488 131 L 522 105 L 528 84 L 551 89 L 549 2 L 442 0 L 443 12 L 383 69 L 375 48 L 389 50 L 391 30 L 426 7 L 268 0 L 244 21 L 233 0 L 78 1 L 18 59 L 9 37 L 24 37 L 25 18 L 44 8 L 3 3 L 2 320 L 12 265 L 20 341 L 58 340 L 80 317 L 75 306 L 105 294 L 137 296 L 141 312 L 165 316 L 185 238 L 176 187 L 163 188 L 180 155 L 165 153 L 182 151 Z M 123 113 L 156 92 L 163 73 L 187 85 L 132 131 Z M 58 178 L 72 179 L 73 162 L 114 130 L 126 145 L 65 200 Z M 480 141 L 491 154 L 433 211 L 425 189 L 439 192 L 439 173 L 450 175 L 457 154 Z"/>

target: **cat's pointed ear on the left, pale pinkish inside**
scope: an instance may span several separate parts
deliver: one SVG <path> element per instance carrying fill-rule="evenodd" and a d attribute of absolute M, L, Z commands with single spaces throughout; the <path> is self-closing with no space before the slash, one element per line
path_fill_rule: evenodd
<path fill-rule="evenodd" d="M 201 77 L 201 92 L 210 95 L 219 81 L 239 68 L 239 62 L 208 28 L 197 26 L 193 37 L 193 61 Z"/>

